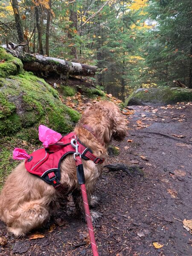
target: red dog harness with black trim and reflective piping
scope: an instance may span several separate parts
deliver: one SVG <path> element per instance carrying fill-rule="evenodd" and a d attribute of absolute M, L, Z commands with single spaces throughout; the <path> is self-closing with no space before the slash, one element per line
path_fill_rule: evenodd
<path fill-rule="evenodd" d="M 58 142 L 49 144 L 47 148 L 39 148 L 32 152 L 29 154 L 30 157 L 25 160 L 26 170 L 58 189 L 61 186 L 59 182 L 61 160 L 68 154 L 76 153 L 77 143 L 78 152 L 84 160 L 92 160 L 95 164 L 103 163 L 104 159 L 93 155 L 90 148 L 86 148 L 78 138 L 76 145 L 74 145 L 74 139 L 76 139 L 76 135 L 71 132 L 61 137 Z"/>

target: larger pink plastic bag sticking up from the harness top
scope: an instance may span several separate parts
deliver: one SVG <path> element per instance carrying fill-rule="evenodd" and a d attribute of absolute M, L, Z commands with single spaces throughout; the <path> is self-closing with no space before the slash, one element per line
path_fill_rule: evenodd
<path fill-rule="evenodd" d="M 49 144 L 58 142 L 62 135 L 45 125 L 39 125 L 39 140 L 47 148 Z"/>

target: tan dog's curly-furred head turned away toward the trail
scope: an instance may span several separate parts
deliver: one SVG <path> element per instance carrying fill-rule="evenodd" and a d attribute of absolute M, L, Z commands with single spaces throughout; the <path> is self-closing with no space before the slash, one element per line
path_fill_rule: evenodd
<path fill-rule="evenodd" d="M 86 108 L 80 124 L 93 128 L 97 137 L 109 144 L 112 139 L 123 140 L 126 135 L 125 118 L 113 102 L 96 102 Z"/>

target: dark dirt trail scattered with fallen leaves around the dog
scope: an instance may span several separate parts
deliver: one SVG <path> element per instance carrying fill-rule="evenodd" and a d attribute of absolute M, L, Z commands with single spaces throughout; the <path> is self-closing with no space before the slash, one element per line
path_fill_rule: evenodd
<path fill-rule="evenodd" d="M 99 255 L 192 256 L 190 228 L 183 227 L 184 219 L 192 220 L 192 104 L 131 108 L 128 137 L 113 143 L 119 155 L 105 164 L 143 169 L 132 178 L 104 169 L 96 189 L 102 201 L 96 208 L 102 213 L 95 226 Z M 7 239 L 0 255 L 92 255 L 86 224 L 71 198 L 67 211 L 56 211 L 49 227 L 38 232 L 42 238 L 15 239 L 0 222 L 0 236 Z"/>

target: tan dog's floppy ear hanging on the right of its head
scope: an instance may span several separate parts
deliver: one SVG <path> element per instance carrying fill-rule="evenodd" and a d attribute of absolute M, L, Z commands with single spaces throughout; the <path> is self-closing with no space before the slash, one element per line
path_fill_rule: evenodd
<path fill-rule="evenodd" d="M 123 140 L 127 134 L 127 125 L 125 122 L 125 117 L 120 112 L 117 106 L 114 107 L 113 115 L 113 127 L 112 127 L 112 138 L 114 140 Z"/>

